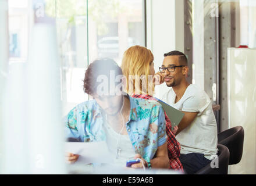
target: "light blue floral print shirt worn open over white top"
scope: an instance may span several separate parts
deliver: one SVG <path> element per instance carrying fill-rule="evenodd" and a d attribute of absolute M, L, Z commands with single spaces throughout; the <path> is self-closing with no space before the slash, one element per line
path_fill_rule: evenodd
<path fill-rule="evenodd" d="M 130 99 L 130 117 L 126 130 L 134 151 L 147 162 L 154 158 L 158 146 L 165 144 L 165 115 L 157 101 Z M 104 113 L 95 100 L 80 103 L 65 118 L 66 138 L 80 142 L 104 141 Z"/>

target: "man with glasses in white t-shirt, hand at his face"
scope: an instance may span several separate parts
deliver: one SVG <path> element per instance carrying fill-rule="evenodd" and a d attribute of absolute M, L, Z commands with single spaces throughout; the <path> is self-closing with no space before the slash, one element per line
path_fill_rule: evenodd
<path fill-rule="evenodd" d="M 155 76 L 158 83 L 164 81 L 170 90 L 162 100 L 185 115 L 179 123 L 176 139 L 181 145 L 180 161 L 187 174 L 193 174 L 211 163 L 216 156 L 217 125 L 211 100 L 197 85 L 189 84 L 187 57 L 179 51 L 164 54 L 162 66 Z"/>

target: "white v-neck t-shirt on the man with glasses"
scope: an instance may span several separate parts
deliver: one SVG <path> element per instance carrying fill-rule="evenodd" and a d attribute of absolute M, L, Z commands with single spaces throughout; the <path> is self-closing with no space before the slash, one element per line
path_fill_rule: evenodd
<path fill-rule="evenodd" d="M 205 158 L 214 159 L 218 151 L 217 124 L 209 96 L 197 85 L 190 84 L 182 98 L 175 103 L 173 88 L 162 96 L 162 101 L 183 112 L 198 112 L 192 123 L 184 128 L 176 139 L 182 154 L 203 153 Z"/>

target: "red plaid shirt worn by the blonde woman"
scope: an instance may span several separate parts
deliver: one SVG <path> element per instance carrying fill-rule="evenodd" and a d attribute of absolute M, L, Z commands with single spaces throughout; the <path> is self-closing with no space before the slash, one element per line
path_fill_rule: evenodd
<path fill-rule="evenodd" d="M 134 94 L 133 98 L 143 98 L 151 99 L 157 101 L 154 97 L 148 94 Z M 176 140 L 175 135 L 172 133 L 172 124 L 170 119 L 165 112 L 165 121 L 166 121 L 166 135 L 167 135 L 167 147 L 168 147 L 168 156 L 169 156 L 169 169 L 181 170 L 183 171 L 182 163 L 180 162 L 180 143 Z"/>

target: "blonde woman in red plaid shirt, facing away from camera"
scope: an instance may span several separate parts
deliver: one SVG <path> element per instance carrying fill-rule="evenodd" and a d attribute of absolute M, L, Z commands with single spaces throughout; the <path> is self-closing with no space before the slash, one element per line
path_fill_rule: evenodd
<path fill-rule="evenodd" d="M 123 55 L 122 71 L 127 83 L 125 92 L 134 98 L 153 99 L 154 95 L 154 56 L 152 52 L 138 45 L 127 49 Z M 169 168 L 182 170 L 180 163 L 180 144 L 173 134 L 168 116 L 165 113 L 166 135 L 168 136 Z M 177 128 L 175 128 L 175 131 Z"/>

